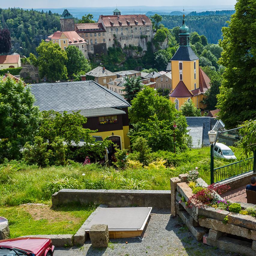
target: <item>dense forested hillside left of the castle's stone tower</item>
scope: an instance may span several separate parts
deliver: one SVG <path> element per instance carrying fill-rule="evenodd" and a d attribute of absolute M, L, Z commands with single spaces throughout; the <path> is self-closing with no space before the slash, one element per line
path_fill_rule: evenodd
<path fill-rule="evenodd" d="M 59 18 L 59 14 L 51 11 L 0 9 L 0 29 L 10 30 L 13 46 L 11 53 L 29 56 L 29 53 L 36 53 L 35 48 L 41 39 L 60 30 Z"/>

